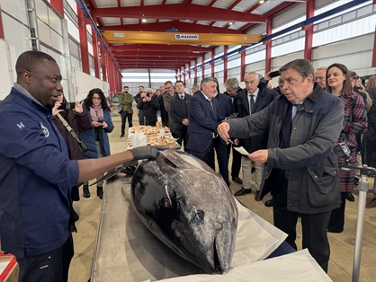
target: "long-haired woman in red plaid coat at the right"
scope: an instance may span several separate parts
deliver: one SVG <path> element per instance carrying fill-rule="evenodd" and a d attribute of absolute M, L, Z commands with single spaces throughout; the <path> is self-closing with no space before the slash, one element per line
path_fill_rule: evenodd
<path fill-rule="evenodd" d="M 356 161 L 356 137 L 367 128 L 367 111 L 361 95 L 355 93 L 351 84 L 349 70 L 342 64 L 327 67 L 327 91 L 339 97 L 345 104 L 344 128 L 338 137 L 338 143 L 345 142 L 351 151 L 351 164 Z M 345 159 L 338 158 L 338 164 L 344 164 Z M 327 231 L 341 233 L 345 225 L 346 196 L 354 189 L 354 170 L 339 170 L 341 207 L 332 210 Z M 352 194 L 351 194 L 352 195 Z"/>

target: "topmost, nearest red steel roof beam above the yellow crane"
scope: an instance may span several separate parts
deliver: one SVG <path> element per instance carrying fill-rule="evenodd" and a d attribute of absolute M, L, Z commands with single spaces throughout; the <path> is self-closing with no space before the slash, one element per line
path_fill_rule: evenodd
<path fill-rule="evenodd" d="M 188 19 L 191 21 L 224 21 L 224 22 L 265 22 L 260 14 L 249 14 L 228 11 L 201 4 L 151 4 L 144 6 L 99 8 L 92 11 L 92 16 L 139 19 Z"/>

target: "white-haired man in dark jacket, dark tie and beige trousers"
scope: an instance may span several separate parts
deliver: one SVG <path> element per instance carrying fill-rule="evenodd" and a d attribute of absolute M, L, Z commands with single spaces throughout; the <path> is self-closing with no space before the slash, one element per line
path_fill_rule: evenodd
<path fill-rule="evenodd" d="M 246 89 L 237 94 L 234 99 L 234 112 L 237 113 L 237 118 L 243 118 L 263 110 L 274 100 L 276 93 L 267 87 L 263 89 L 258 87 L 261 78 L 261 75 L 254 72 L 245 75 Z M 242 145 L 248 153 L 253 153 L 266 148 L 267 137 L 267 133 L 264 132 L 264 134 L 256 137 L 240 139 L 239 145 Z M 252 163 L 255 164 L 255 200 L 259 201 L 262 199 L 259 197 L 259 190 L 263 178 L 264 163 L 255 163 L 247 156 L 242 157 L 243 187 L 234 195 L 242 196 L 247 193 L 252 193 Z"/>

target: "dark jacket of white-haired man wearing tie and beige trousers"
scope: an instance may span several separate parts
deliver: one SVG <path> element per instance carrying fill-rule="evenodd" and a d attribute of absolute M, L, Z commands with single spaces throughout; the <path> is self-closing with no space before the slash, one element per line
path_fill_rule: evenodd
<path fill-rule="evenodd" d="M 255 101 L 255 112 L 266 108 L 276 96 L 277 94 L 268 88 L 259 89 Z M 243 118 L 249 115 L 249 102 L 246 89 L 243 89 L 241 93 L 238 93 L 237 96 L 235 96 L 234 113 L 237 113 L 237 118 Z M 267 140 L 268 134 L 267 131 L 265 131 L 263 134 L 256 137 L 240 139 L 239 145 L 242 145 L 248 153 L 252 153 L 260 149 L 265 149 Z"/>

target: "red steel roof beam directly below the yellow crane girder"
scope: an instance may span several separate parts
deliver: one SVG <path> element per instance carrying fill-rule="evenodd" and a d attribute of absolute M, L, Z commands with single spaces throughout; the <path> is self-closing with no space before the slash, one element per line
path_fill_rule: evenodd
<path fill-rule="evenodd" d="M 164 44 L 132 44 L 112 46 L 112 51 L 139 51 L 139 52 L 210 52 L 212 48 L 192 45 L 164 45 Z M 116 53 L 113 53 L 116 55 Z"/>

